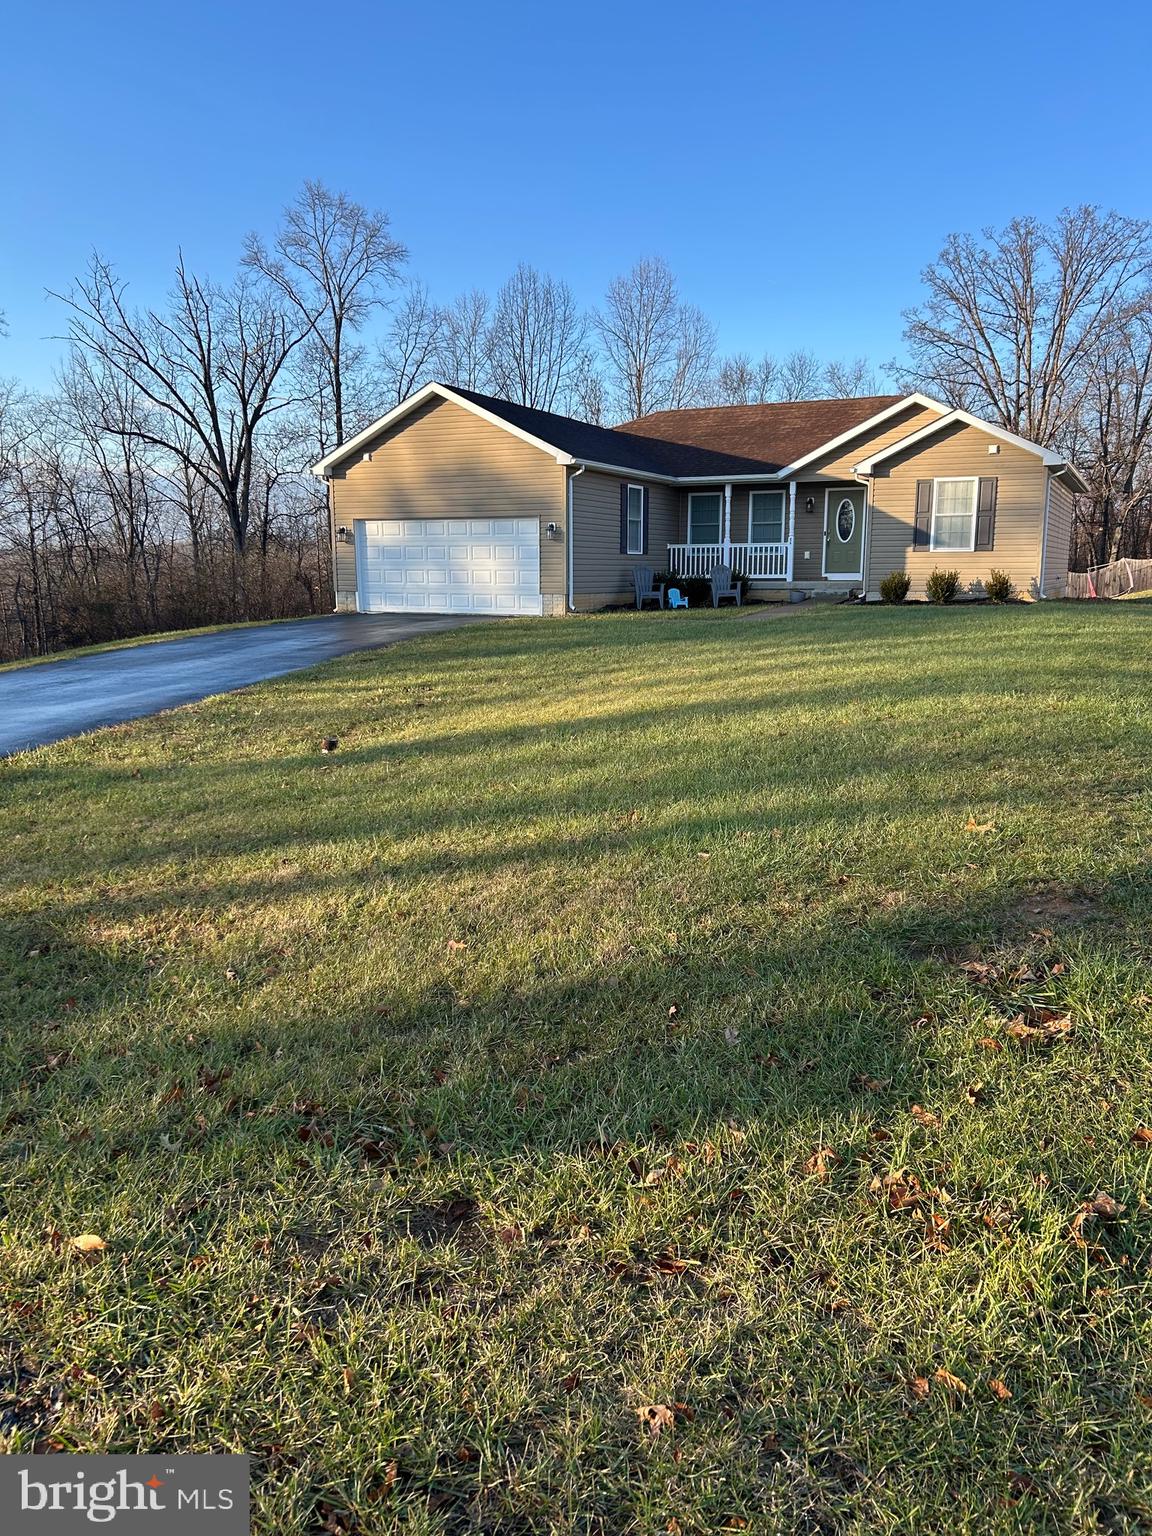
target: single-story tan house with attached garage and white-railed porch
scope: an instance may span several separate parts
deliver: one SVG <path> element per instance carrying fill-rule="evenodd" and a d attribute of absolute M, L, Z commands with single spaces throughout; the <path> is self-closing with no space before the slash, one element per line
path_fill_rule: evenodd
<path fill-rule="evenodd" d="M 619 427 L 427 384 L 313 465 L 339 610 L 562 614 L 636 565 L 753 596 L 912 596 L 940 565 L 1060 596 L 1074 465 L 926 395 L 664 410 Z"/>

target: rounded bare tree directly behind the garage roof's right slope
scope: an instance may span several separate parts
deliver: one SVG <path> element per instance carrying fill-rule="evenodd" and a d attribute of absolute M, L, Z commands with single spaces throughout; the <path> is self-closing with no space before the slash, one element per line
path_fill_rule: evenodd
<path fill-rule="evenodd" d="M 495 392 L 538 410 L 567 404 L 587 329 L 568 284 L 521 263 L 499 290 L 488 326 Z"/>

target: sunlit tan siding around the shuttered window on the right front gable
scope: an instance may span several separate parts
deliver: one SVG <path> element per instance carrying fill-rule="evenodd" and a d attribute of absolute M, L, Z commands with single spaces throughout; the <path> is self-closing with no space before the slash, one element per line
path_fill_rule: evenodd
<path fill-rule="evenodd" d="M 869 596 L 894 570 L 912 578 L 912 598 L 922 598 L 925 579 L 934 570 L 957 570 L 963 587 L 978 591 L 992 570 L 1008 571 L 1025 598 L 1035 598 L 1040 576 L 1040 544 L 1044 522 L 1048 470 L 1037 453 L 1000 442 L 977 427 L 949 427 L 903 455 L 877 465 L 872 479 L 868 579 Z M 915 482 L 949 476 L 994 476 L 997 481 L 995 544 L 991 550 L 915 548 Z"/>

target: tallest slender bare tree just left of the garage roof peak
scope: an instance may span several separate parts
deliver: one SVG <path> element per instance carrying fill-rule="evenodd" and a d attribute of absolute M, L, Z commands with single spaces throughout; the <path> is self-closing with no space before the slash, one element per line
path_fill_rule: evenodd
<path fill-rule="evenodd" d="M 244 263 L 289 300 L 319 349 L 319 453 L 346 438 L 346 376 L 362 356 L 352 338 L 384 304 L 407 255 L 387 214 L 370 212 L 319 181 L 306 181 L 284 209 L 270 250 L 258 235 L 247 237 Z"/>

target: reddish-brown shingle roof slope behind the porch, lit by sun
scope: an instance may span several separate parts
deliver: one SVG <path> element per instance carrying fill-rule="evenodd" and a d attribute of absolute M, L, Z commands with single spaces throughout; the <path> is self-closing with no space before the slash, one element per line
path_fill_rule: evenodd
<path fill-rule="evenodd" d="M 650 416 L 625 421 L 614 430 L 708 449 L 780 470 L 903 398 L 866 395 L 859 399 L 794 399 L 770 406 L 654 410 Z"/>

